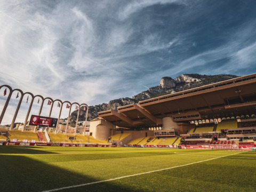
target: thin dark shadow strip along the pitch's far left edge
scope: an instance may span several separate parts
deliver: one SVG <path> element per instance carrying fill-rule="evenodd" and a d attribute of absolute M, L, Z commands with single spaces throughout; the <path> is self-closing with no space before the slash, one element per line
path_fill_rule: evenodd
<path fill-rule="evenodd" d="M 0 154 L 58 154 L 45 150 L 37 150 L 41 147 L 33 146 L 0 146 Z M 22 149 L 22 150 L 21 150 Z"/>

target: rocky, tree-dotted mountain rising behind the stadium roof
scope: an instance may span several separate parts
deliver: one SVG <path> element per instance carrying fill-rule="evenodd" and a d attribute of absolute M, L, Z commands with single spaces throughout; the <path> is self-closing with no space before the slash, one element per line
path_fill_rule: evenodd
<path fill-rule="evenodd" d="M 149 88 L 147 91 L 143 91 L 132 98 L 120 98 L 109 101 L 109 103 L 102 103 L 100 105 L 89 106 L 88 121 L 98 117 L 98 112 L 106 110 L 116 110 L 117 107 L 129 105 L 132 103 L 138 103 L 146 99 L 159 97 L 162 95 L 193 89 L 195 87 L 209 85 L 211 83 L 217 83 L 225 81 L 227 79 L 236 78 L 235 75 L 199 75 L 199 74 L 184 74 L 176 77 L 163 77 L 160 84 L 155 87 Z M 73 111 L 71 119 L 76 119 L 77 111 Z M 79 121 L 84 121 L 86 111 L 80 110 Z"/>

